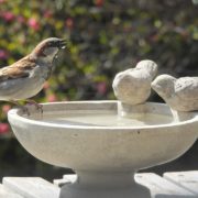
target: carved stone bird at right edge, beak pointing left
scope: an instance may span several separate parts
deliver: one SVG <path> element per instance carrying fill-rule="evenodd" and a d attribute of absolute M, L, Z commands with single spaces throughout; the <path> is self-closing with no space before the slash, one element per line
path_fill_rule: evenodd
<path fill-rule="evenodd" d="M 173 110 L 198 110 L 198 77 L 161 75 L 151 86 Z"/>

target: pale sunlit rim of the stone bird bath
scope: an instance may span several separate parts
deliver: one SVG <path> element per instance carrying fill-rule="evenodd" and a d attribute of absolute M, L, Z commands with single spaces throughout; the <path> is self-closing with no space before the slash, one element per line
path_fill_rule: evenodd
<path fill-rule="evenodd" d="M 88 106 L 106 106 L 106 105 L 114 105 L 114 108 L 112 110 L 114 111 L 119 111 L 118 108 L 119 106 L 121 106 L 121 102 L 118 101 L 118 100 L 95 100 L 95 101 L 88 101 L 88 100 L 85 100 L 85 101 L 62 101 L 62 102 L 47 102 L 47 103 L 42 103 L 43 106 L 43 113 L 45 114 L 45 112 L 50 112 L 51 109 L 50 107 L 52 106 L 61 106 L 61 105 L 65 105 L 65 106 L 75 106 L 75 105 L 86 105 L 86 107 Z M 172 110 L 169 109 L 169 107 L 166 105 L 166 103 L 160 103 L 160 102 L 145 102 L 145 103 L 142 103 L 142 105 L 136 105 L 134 106 L 134 108 L 136 107 L 143 107 L 143 106 L 153 106 L 153 107 L 156 107 L 156 108 L 163 108 L 163 110 L 166 111 L 166 113 L 164 113 L 163 111 L 160 111 L 160 112 L 153 112 L 153 109 L 151 111 L 151 113 L 153 114 L 165 114 L 165 116 L 168 116 L 168 117 L 173 117 L 172 114 Z M 132 106 L 131 106 L 132 107 Z M 31 107 L 31 106 L 28 106 L 28 109 L 30 111 L 30 113 L 34 113 L 34 114 L 40 114 L 41 112 L 40 111 L 36 111 L 34 109 L 34 107 Z M 55 109 L 55 112 L 62 110 L 61 108 L 59 109 Z M 66 111 L 67 109 L 65 109 Z M 69 111 L 72 111 L 74 109 L 69 109 Z M 76 110 L 76 109 L 75 109 Z M 84 110 L 86 110 L 86 108 L 84 108 Z M 90 109 L 90 110 L 105 110 L 105 108 L 97 108 L 97 109 Z M 169 112 L 167 112 L 169 110 Z M 110 111 L 110 110 L 109 110 Z M 119 112 L 118 112 L 119 113 Z M 63 128 L 63 129 L 94 129 L 94 130 L 139 130 L 139 129 L 162 129 L 162 128 L 172 128 L 172 127 L 177 127 L 177 125 L 185 125 L 185 124 L 189 124 L 189 123 L 193 123 L 193 122 L 196 122 L 198 121 L 198 112 L 194 111 L 194 112 L 180 112 L 180 116 L 182 118 L 184 117 L 185 119 L 184 120 L 177 120 L 177 121 L 174 121 L 173 122 L 168 122 L 168 123 L 160 123 L 160 124 L 152 124 L 152 125 L 148 125 L 148 124 L 145 124 L 145 125 L 122 125 L 122 127 L 112 127 L 112 125 L 76 125 L 76 124 L 66 124 L 66 123 L 50 123 L 50 122 L 43 122 L 42 121 L 42 114 L 41 114 L 41 120 L 34 120 L 34 119 L 31 119 L 31 117 L 28 117 L 28 116 L 24 116 L 21 111 L 21 109 L 11 109 L 9 112 L 8 112 L 9 117 L 12 117 L 12 119 L 14 118 L 15 121 L 20 120 L 20 121 L 23 121 L 25 123 L 29 123 L 29 124 L 33 124 L 33 125 L 41 125 L 41 127 L 53 127 L 53 128 Z M 179 114 L 177 114 L 179 117 Z M 173 118 L 174 119 L 174 118 Z"/>

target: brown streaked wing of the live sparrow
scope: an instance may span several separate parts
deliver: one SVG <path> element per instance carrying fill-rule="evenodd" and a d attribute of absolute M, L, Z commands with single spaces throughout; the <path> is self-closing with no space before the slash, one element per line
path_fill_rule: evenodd
<path fill-rule="evenodd" d="M 30 76 L 31 69 L 35 67 L 35 63 L 24 57 L 16 63 L 0 69 L 0 82 L 8 79 L 26 78 Z"/>

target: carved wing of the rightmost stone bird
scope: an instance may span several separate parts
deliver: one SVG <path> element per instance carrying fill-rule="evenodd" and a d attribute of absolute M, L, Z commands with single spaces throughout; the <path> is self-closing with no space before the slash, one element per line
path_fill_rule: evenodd
<path fill-rule="evenodd" d="M 198 77 L 183 77 L 175 84 L 176 95 L 188 100 L 198 100 Z"/>

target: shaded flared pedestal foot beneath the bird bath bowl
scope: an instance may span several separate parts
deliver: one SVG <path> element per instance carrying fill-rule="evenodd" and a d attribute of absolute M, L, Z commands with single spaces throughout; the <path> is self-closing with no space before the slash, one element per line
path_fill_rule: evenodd
<path fill-rule="evenodd" d="M 130 173 L 78 173 L 59 198 L 150 198 L 150 190 L 136 184 Z"/>

